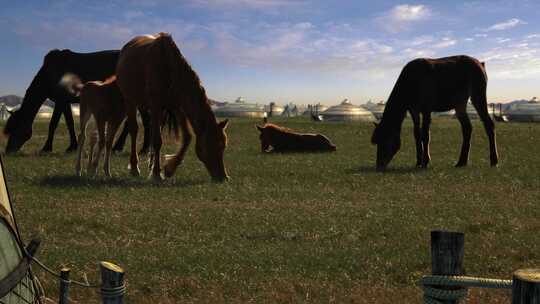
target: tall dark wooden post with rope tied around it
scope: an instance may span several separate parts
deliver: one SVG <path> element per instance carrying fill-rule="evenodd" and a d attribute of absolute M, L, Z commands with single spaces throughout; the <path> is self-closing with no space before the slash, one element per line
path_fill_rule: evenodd
<path fill-rule="evenodd" d="M 431 231 L 431 272 L 433 275 L 463 275 L 465 235 L 461 232 Z M 462 287 L 432 286 L 456 290 Z M 457 304 L 459 301 L 441 301 Z"/>

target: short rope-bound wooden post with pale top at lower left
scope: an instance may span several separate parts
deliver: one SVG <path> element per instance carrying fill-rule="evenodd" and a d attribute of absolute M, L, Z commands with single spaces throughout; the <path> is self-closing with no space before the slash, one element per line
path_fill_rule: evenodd
<path fill-rule="evenodd" d="M 100 269 L 103 304 L 124 303 L 124 269 L 109 262 L 101 262 Z"/>

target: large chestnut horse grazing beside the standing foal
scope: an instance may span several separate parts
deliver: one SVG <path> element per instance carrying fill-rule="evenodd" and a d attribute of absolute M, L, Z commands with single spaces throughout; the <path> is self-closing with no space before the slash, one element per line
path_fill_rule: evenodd
<path fill-rule="evenodd" d="M 166 33 L 139 36 L 121 50 L 116 69 L 118 86 L 124 96 L 131 135 L 131 173 L 139 174 L 136 148 L 137 107 L 151 113 L 153 166 L 151 176 L 161 179 L 160 149 L 164 113 L 173 116 L 182 131 L 182 148 L 166 160 L 165 176 L 172 176 L 182 162 L 191 141 L 191 128 L 197 139 L 195 152 L 214 180 L 228 179 L 223 163 L 227 145 L 228 121 L 216 118 L 199 76 L 184 58 L 172 37 Z M 174 119 L 176 118 L 176 119 Z M 178 133 L 178 124 L 175 126 Z M 190 128 L 191 125 L 191 128 Z"/>

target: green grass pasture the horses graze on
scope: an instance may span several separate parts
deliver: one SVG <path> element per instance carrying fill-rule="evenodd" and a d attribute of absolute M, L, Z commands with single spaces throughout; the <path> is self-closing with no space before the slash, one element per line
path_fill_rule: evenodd
<path fill-rule="evenodd" d="M 435 229 L 465 232 L 468 274 L 510 278 L 540 266 L 540 125 L 498 124 L 494 169 L 475 122 L 470 165 L 455 169 L 458 123 L 434 120 L 432 166 L 416 170 L 407 121 L 381 174 L 370 124 L 278 121 L 324 133 L 338 151 L 272 155 L 260 153 L 254 123 L 230 124 L 230 182 L 210 182 L 191 149 L 176 176 L 155 185 L 128 176 L 127 154 L 113 158 L 111 179 L 75 177 L 64 126 L 56 152 L 36 155 L 47 128 L 38 122 L 23 153 L 5 157 L 23 237 L 41 234 L 39 258 L 71 267 L 74 279 L 97 281 L 100 260 L 122 265 L 129 303 L 421 303 L 416 282 L 430 271 Z M 57 283 L 37 274 L 54 298 Z M 76 287 L 71 295 L 98 301 Z M 508 302 L 491 290 L 467 301 Z"/>

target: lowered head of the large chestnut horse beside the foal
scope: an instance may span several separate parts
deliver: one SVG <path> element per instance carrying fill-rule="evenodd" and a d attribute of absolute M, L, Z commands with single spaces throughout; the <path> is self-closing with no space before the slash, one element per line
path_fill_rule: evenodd
<path fill-rule="evenodd" d="M 204 163 L 212 179 L 219 182 L 229 179 L 223 163 L 223 152 L 227 146 L 225 129 L 228 122 L 226 119 L 216 125 L 207 126 L 202 136 L 197 136 L 195 145 L 197 157 Z"/>

